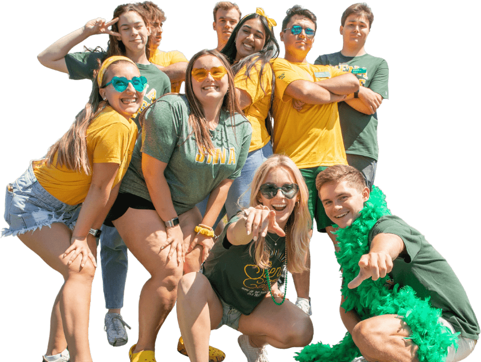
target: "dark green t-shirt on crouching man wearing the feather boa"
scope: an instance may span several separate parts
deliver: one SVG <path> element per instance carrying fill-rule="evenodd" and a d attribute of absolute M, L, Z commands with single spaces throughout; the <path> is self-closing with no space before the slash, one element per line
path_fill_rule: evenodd
<path fill-rule="evenodd" d="M 397 235 L 406 245 L 406 253 L 393 261 L 389 273 L 393 284 L 411 286 L 420 299 L 431 297 L 431 305 L 443 311 L 442 317 L 453 326 L 454 331 L 478 340 L 478 319 L 448 261 L 419 231 L 398 216 L 381 217 L 369 233 L 369 243 L 380 233 Z"/>

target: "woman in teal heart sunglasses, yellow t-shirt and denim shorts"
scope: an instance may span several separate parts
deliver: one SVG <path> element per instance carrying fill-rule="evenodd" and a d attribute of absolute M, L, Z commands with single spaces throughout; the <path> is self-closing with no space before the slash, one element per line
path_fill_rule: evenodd
<path fill-rule="evenodd" d="M 9 227 L 1 236 L 17 236 L 64 277 L 43 361 L 47 356 L 68 361 L 67 345 L 72 361 L 92 361 L 89 313 L 96 238 L 130 161 L 137 135 L 130 118 L 142 104 L 146 82 L 132 60 L 105 60 L 89 101 L 69 130 L 6 187 Z"/>

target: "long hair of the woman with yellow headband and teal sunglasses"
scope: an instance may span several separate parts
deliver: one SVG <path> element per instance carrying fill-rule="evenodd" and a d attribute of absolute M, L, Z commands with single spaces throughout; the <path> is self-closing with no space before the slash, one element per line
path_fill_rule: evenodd
<path fill-rule="evenodd" d="M 112 64 L 120 62 L 128 62 L 127 60 L 117 60 Z M 131 63 L 131 62 L 128 62 Z M 110 65 L 112 65 L 110 64 Z M 107 68 L 108 69 L 108 68 Z M 47 166 L 51 166 L 57 155 L 57 162 L 54 166 L 66 166 L 69 170 L 84 172 L 90 175 L 92 169 L 87 153 L 87 128 L 90 123 L 97 117 L 97 115 L 107 106 L 108 102 L 104 101 L 99 93 L 97 84 L 97 71 L 94 71 L 94 81 L 92 85 L 92 92 L 89 100 L 85 104 L 70 128 L 59 138 L 52 146 L 49 147 L 46 158 Z M 107 83 L 108 77 L 103 77 L 102 86 Z"/>

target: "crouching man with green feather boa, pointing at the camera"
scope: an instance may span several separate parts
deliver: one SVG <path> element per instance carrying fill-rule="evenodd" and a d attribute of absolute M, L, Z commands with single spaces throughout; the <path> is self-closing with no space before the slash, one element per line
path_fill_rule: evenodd
<path fill-rule="evenodd" d="M 457 350 L 453 345 L 449 346 L 450 340 L 446 343 L 446 362 L 458 362 L 468 357 L 479 339 L 480 325 L 464 287 L 447 260 L 420 232 L 400 217 L 391 215 L 382 191 L 375 187 L 371 192 L 362 174 L 353 166 L 328 167 L 318 175 L 316 187 L 327 216 L 341 229 L 346 229 L 338 236 L 341 241 L 336 256 L 343 277 L 348 276 L 351 280 L 347 280 L 347 288 L 342 288 L 339 309 L 344 326 L 364 358 L 367 361 L 417 362 L 418 356 L 426 353 L 419 347 L 425 340 L 422 332 L 436 331 L 433 334 L 436 341 L 443 339 L 448 329 L 453 334 L 459 333 Z M 378 216 L 377 210 L 385 211 L 379 212 Z M 357 218 L 359 221 L 354 223 Z M 348 240 L 347 235 L 355 235 L 351 237 L 355 241 Z M 356 257 L 352 246 L 359 250 Z M 380 283 L 370 284 L 372 281 L 368 280 L 376 281 L 386 276 Z M 410 293 L 412 288 L 415 300 L 429 301 L 430 307 L 442 311 L 441 317 L 432 314 L 434 324 L 428 323 L 426 329 L 421 323 L 429 316 L 419 311 L 417 303 L 410 304 L 403 312 L 375 313 L 378 305 L 381 308 L 392 305 L 389 298 L 380 297 L 386 294 L 385 288 L 397 290 L 397 286 L 399 293 L 388 294 L 395 301 L 401 301 L 399 296 Z M 366 288 L 368 292 L 365 292 Z M 369 299 L 364 299 L 366 293 Z M 370 308 L 367 314 L 366 304 Z M 368 317 L 373 314 L 374 317 Z M 416 323 L 413 322 L 415 319 L 408 318 L 410 315 L 417 318 Z M 423 329 L 417 329 L 419 326 Z M 413 334 L 411 339 L 411 332 L 418 334 Z M 432 350 L 436 345 L 430 348 Z M 442 348 L 435 352 L 446 355 Z"/>

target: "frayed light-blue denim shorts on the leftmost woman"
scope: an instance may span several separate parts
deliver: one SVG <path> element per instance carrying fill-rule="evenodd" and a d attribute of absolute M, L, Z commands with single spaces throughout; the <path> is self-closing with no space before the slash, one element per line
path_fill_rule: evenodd
<path fill-rule="evenodd" d="M 3 218 L 9 227 L 1 230 L 1 237 L 50 227 L 54 222 L 73 230 L 81 205 L 64 204 L 49 194 L 35 178 L 31 162 L 22 176 L 6 186 Z"/>

